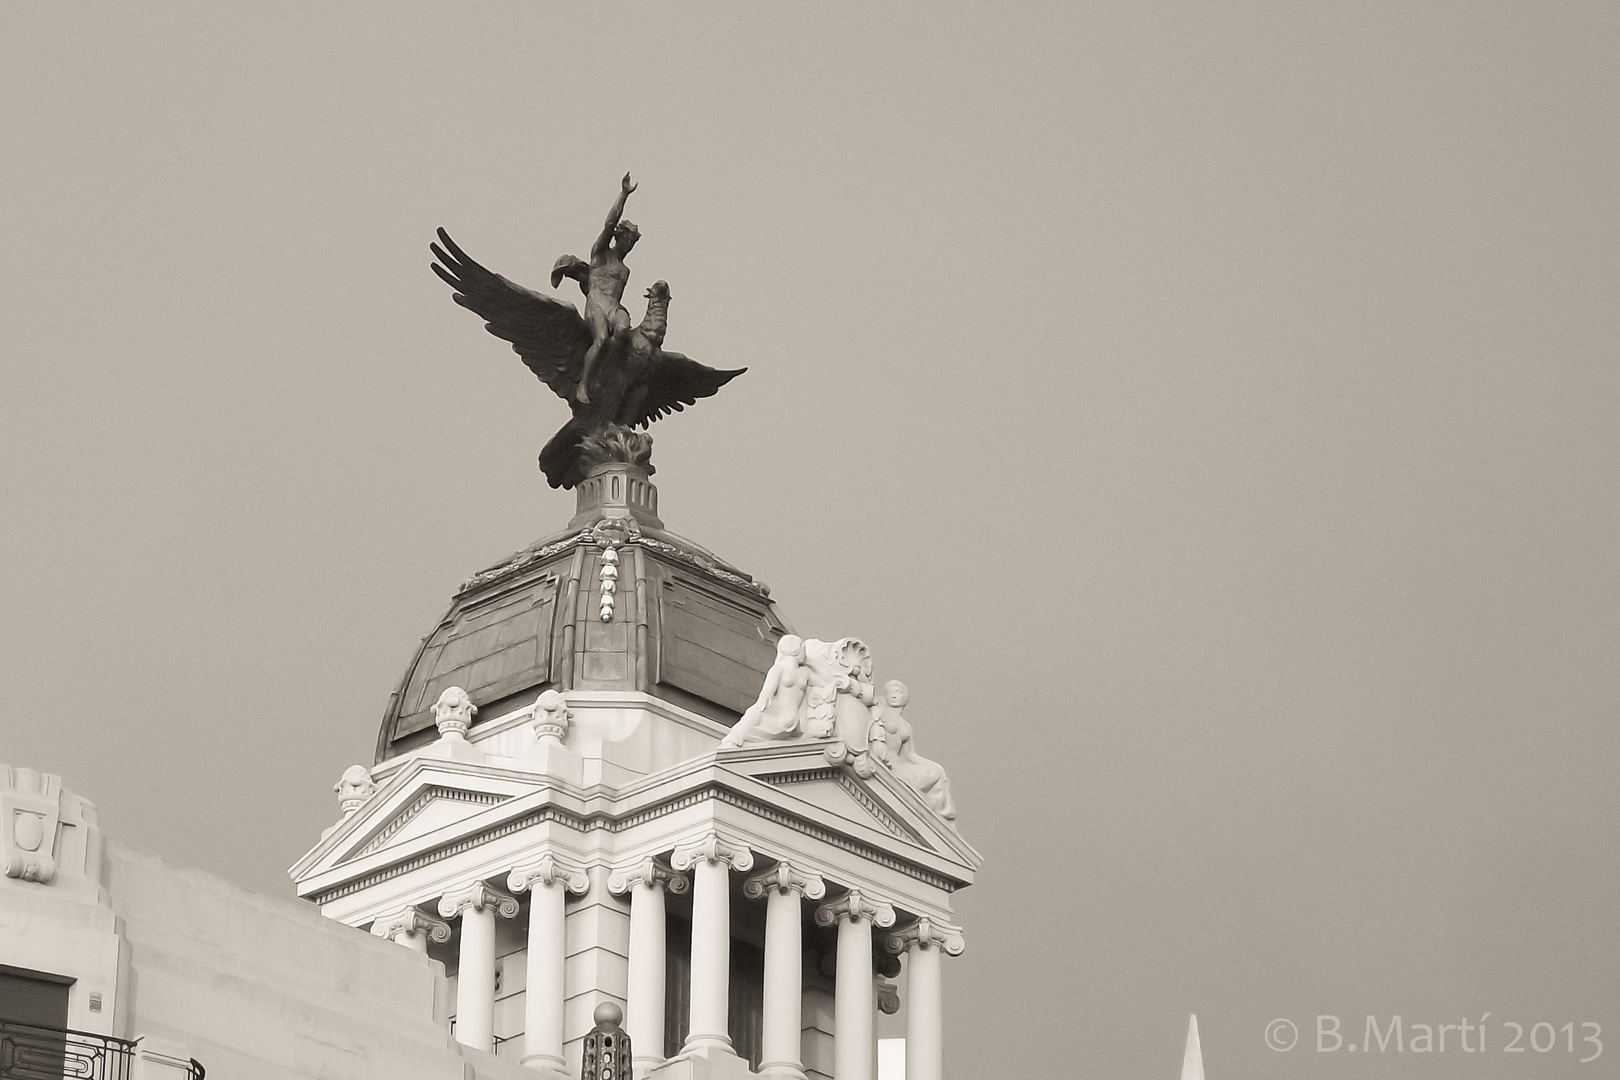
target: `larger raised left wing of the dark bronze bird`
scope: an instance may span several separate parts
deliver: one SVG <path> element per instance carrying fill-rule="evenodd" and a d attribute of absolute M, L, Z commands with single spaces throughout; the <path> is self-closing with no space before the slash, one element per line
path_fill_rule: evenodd
<path fill-rule="evenodd" d="M 486 270 L 468 259 L 442 228 L 439 241 L 442 248 L 429 244 L 439 259 L 433 272 L 455 290 L 455 303 L 483 317 L 486 330 L 512 342 L 528 369 L 557 397 L 572 402 L 585 368 L 585 350 L 591 345 L 591 330 L 578 309 Z"/>

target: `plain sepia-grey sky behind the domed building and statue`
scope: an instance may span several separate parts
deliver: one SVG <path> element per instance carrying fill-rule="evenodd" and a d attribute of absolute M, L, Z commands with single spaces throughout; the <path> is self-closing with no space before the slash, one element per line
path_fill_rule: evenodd
<path fill-rule="evenodd" d="M 1612 3 L 0 6 L 0 761 L 290 899 L 455 586 L 572 513 L 433 230 L 543 288 L 629 170 L 629 295 L 748 368 L 654 426 L 664 521 L 910 685 L 985 855 L 953 1080 L 1173 1077 L 1191 1012 L 1212 1080 L 1602 1075 L 1617 52 Z"/>

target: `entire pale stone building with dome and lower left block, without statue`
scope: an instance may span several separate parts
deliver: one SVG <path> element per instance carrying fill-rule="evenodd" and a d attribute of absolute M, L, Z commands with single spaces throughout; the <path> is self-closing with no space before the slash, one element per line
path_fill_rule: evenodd
<path fill-rule="evenodd" d="M 5 1046 L 81 1031 L 113 1069 L 83 1075 L 562 1078 L 611 1004 L 637 1077 L 872 1080 L 881 1010 L 907 1080 L 941 1080 L 980 857 L 904 687 L 664 529 L 645 468 L 577 491 L 423 640 L 290 870 L 308 905 L 0 774 Z"/>

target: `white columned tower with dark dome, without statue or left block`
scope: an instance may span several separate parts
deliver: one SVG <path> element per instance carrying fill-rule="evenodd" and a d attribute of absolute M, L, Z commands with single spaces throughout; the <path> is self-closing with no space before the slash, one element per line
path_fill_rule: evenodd
<path fill-rule="evenodd" d="M 904 1009 L 906 1074 L 940 1080 L 980 858 L 904 687 L 656 500 L 598 466 L 564 531 L 462 586 L 298 894 L 441 960 L 455 1038 L 548 1077 L 612 1002 L 637 1077 L 872 1080 Z"/>

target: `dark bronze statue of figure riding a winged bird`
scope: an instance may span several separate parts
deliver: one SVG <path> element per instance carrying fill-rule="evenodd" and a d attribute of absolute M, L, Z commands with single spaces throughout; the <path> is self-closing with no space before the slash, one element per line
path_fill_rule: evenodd
<path fill-rule="evenodd" d="M 614 426 L 646 427 L 659 416 L 713 395 L 747 371 L 718 371 L 664 351 L 666 282 L 653 282 L 646 290 L 646 316 L 640 325 L 630 325 L 629 313 L 617 301 L 630 275 L 622 256 L 638 233 L 619 217 L 633 189 L 625 176 L 603 238 L 591 248 L 591 262 L 562 256 L 552 272 L 552 288 L 564 275 L 580 282 L 590 319 L 564 300 L 543 296 L 486 270 L 442 228 L 439 243 L 429 244 L 437 257 L 433 270 L 455 290 L 455 303 L 483 317 L 486 330 L 510 342 L 528 369 L 573 411 L 539 452 L 539 468 L 552 487 L 573 487 L 585 479 L 580 442 L 588 436 Z M 617 243 L 609 244 L 609 240 Z M 608 309 L 609 301 L 612 309 Z"/>

